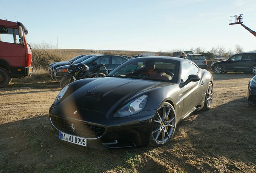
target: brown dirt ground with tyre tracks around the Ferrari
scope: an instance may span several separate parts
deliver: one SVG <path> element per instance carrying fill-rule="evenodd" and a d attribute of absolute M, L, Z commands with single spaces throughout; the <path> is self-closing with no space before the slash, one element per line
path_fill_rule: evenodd
<path fill-rule="evenodd" d="M 14 80 L 0 89 L 0 173 L 256 172 L 256 107 L 246 94 L 252 74 L 213 74 L 214 100 L 178 125 L 163 147 L 93 149 L 60 141 L 47 113 L 57 82 Z"/>

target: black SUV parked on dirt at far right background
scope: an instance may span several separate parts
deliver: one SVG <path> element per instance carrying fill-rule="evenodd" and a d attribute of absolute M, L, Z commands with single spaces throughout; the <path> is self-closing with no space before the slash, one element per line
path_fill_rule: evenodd
<path fill-rule="evenodd" d="M 211 70 L 217 74 L 228 71 L 252 72 L 256 74 L 256 52 L 242 52 L 231 56 L 228 60 L 213 62 Z"/>

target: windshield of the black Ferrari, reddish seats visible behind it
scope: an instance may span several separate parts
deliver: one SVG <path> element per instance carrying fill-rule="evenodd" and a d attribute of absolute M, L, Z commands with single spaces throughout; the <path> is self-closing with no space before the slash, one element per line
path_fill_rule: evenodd
<path fill-rule="evenodd" d="M 178 78 L 178 61 L 160 58 L 134 58 L 115 68 L 107 74 L 107 77 L 176 82 Z"/>

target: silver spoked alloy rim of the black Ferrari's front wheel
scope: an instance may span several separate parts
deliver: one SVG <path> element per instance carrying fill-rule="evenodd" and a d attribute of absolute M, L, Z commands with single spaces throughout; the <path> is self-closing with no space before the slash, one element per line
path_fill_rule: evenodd
<path fill-rule="evenodd" d="M 171 138 L 175 129 L 175 115 L 169 106 L 163 106 L 157 111 L 152 130 L 152 138 L 158 144 L 164 144 Z"/>

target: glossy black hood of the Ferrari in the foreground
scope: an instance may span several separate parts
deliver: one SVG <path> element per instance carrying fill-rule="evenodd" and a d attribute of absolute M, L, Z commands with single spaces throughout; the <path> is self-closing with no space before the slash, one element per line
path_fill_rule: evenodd
<path fill-rule="evenodd" d="M 78 80 L 77 82 L 81 84 L 82 81 Z M 139 93 L 147 94 L 152 89 L 171 85 L 169 82 L 116 77 L 83 79 L 83 82 L 86 84 L 71 91 L 74 93 L 63 101 L 64 107 L 72 105 L 80 109 L 114 113 L 120 106 L 139 97 Z M 76 82 L 73 84 L 75 85 Z M 75 87 L 71 85 L 70 88 Z"/>

